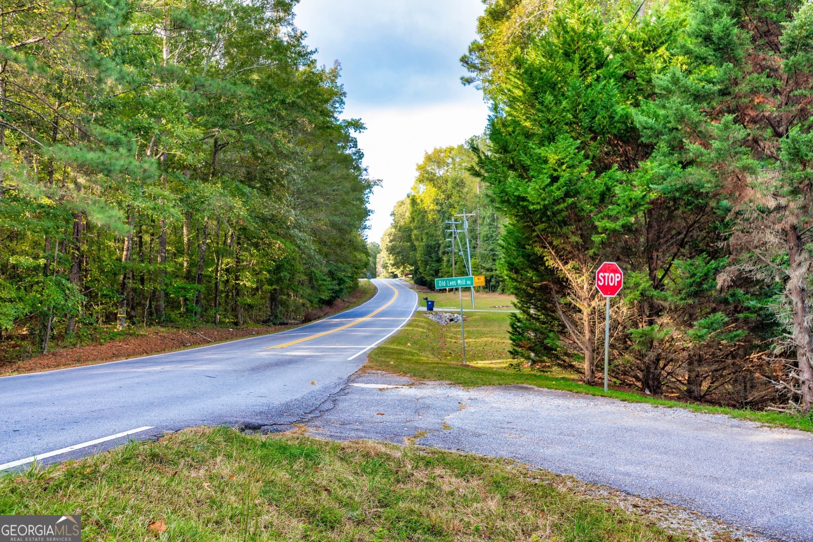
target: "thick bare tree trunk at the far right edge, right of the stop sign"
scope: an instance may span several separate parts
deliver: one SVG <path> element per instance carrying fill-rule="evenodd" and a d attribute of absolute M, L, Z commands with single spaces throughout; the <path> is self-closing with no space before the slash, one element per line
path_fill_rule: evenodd
<path fill-rule="evenodd" d="M 813 337 L 807 322 L 807 275 L 810 271 L 810 255 L 802 247 L 795 224 L 785 228 L 788 243 L 787 292 L 793 306 L 793 345 L 798 363 L 799 394 L 802 410 L 810 412 L 813 405 Z"/>

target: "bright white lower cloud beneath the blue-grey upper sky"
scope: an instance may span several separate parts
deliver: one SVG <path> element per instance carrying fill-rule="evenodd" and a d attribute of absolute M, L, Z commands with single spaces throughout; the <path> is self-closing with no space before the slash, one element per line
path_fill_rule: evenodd
<path fill-rule="evenodd" d="M 473 94 L 473 93 L 472 93 Z M 389 226 L 389 213 L 405 197 L 415 180 L 415 166 L 435 147 L 460 145 L 483 132 L 488 108 L 478 99 L 469 102 L 411 108 L 354 108 L 367 131 L 359 134 L 364 163 L 370 176 L 382 180 L 372 193 L 367 239 L 379 241 Z"/>

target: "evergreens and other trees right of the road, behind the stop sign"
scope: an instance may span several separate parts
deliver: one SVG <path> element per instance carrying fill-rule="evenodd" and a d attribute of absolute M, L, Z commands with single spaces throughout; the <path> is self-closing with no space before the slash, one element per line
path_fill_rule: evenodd
<path fill-rule="evenodd" d="M 810 413 L 813 3 L 485 3 L 461 59 L 485 136 L 427 155 L 391 270 L 431 285 L 443 223 L 476 208 L 493 258 L 472 267 L 515 295 L 528 366 L 597 382 L 615 261 L 615 384 Z"/>

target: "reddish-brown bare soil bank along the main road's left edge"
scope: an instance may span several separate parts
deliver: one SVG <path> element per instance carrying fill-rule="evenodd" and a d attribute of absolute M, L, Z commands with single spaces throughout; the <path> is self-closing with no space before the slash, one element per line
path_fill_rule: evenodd
<path fill-rule="evenodd" d="M 330 314 L 336 314 L 354 306 L 365 297 L 372 297 L 370 290 L 362 288 L 345 299 L 334 301 L 332 305 L 326 305 L 317 310 L 311 310 L 305 315 L 305 321 L 324 318 Z M 222 340 L 234 340 L 254 335 L 264 335 L 267 333 L 280 332 L 285 329 L 296 327 L 287 326 L 265 326 L 265 327 L 213 327 L 202 326 L 194 329 L 177 329 L 171 327 L 150 327 L 146 329 L 144 335 L 128 337 L 126 339 L 110 340 L 104 344 L 94 344 L 77 346 L 54 350 L 36 358 L 28 359 L 24 362 L 0 359 L 0 376 L 20 375 L 23 373 L 33 373 L 38 371 L 50 371 L 52 369 L 63 369 L 65 367 L 92 365 L 93 363 L 112 362 L 120 359 L 138 358 L 154 353 L 172 352 L 173 350 L 185 349 L 190 346 L 210 345 L 213 342 Z"/>

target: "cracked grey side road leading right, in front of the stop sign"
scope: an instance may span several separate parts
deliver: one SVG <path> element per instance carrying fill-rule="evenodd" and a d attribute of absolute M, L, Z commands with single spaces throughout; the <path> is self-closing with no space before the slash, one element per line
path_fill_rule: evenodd
<path fill-rule="evenodd" d="M 403 386 L 411 381 L 382 373 L 350 383 L 308 423 L 315 435 L 400 444 L 431 431 L 417 444 L 512 457 L 778 540 L 813 540 L 810 433 L 529 386 Z"/>

